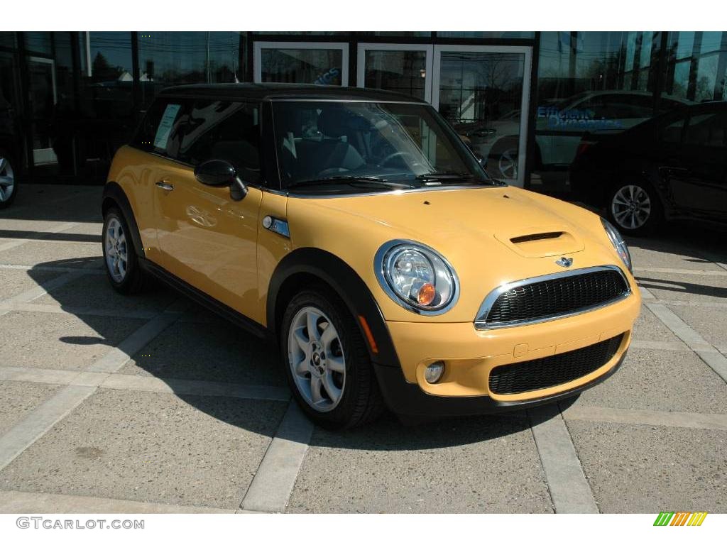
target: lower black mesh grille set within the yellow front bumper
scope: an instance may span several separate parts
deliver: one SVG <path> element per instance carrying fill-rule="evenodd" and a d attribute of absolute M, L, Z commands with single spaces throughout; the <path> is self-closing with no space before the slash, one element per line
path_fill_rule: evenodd
<path fill-rule="evenodd" d="M 571 382 L 608 363 L 619 350 L 622 337 L 623 334 L 571 352 L 495 367 L 490 371 L 490 391 L 519 394 Z"/>

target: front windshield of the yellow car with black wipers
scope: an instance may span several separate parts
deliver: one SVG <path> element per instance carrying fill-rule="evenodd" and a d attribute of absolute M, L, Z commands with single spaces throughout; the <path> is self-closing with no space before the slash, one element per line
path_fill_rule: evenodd
<path fill-rule="evenodd" d="M 281 101 L 273 117 L 284 189 L 499 185 L 429 105 Z"/>

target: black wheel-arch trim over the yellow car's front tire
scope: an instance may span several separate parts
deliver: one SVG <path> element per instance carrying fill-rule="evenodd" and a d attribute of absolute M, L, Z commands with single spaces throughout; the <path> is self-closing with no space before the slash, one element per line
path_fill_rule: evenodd
<path fill-rule="evenodd" d="M 374 352 L 371 350 L 369 342 L 366 342 L 371 361 L 377 366 L 394 367 L 401 370 L 389 329 L 369 286 L 366 286 L 364 280 L 342 259 L 321 249 L 297 249 L 278 263 L 268 286 L 267 320 L 268 328 L 273 335 L 278 336 L 280 327 L 280 324 L 277 323 L 276 309 L 281 287 L 284 286 L 286 280 L 298 273 L 316 276 L 331 286 L 350 310 L 364 339 L 367 338 L 366 332 L 363 331 L 358 316 L 366 318 L 366 323 L 369 324 L 371 335 L 377 346 L 377 352 Z"/>

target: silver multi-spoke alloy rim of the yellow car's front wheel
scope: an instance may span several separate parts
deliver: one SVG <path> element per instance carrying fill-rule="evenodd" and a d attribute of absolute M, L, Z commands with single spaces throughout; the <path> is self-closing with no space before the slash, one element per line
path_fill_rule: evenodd
<path fill-rule="evenodd" d="M 346 384 L 343 345 L 330 318 L 316 307 L 303 307 L 293 317 L 288 363 L 308 405 L 321 413 L 337 407 Z"/>

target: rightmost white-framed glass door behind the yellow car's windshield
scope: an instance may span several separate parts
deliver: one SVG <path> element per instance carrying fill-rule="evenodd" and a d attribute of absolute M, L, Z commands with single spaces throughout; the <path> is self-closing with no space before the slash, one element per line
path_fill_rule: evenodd
<path fill-rule="evenodd" d="M 432 105 L 487 159 L 493 177 L 523 187 L 531 48 L 434 47 Z"/>

